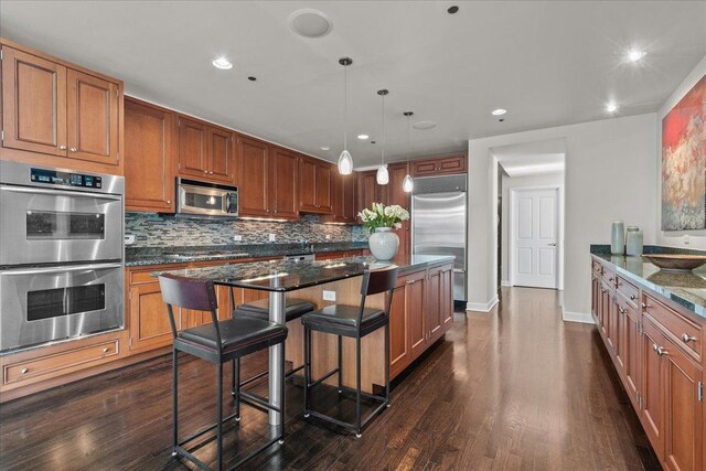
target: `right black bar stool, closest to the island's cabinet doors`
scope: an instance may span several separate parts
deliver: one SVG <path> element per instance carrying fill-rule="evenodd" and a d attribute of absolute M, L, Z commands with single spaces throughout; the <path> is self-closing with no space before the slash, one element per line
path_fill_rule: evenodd
<path fill-rule="evenodd" d="M 361 430 L 383 408 L 389 407 L 389 307 L 393 302 L 393 292 L 397 281 L 397 267 L 384 270 L 365 270 L 361 283 L 361 304 L 328 306 L 318 311 L 302 315 L 304 325 L 304 417 L 314 416 L 328 420 L 338 426 L 353 429 L 356 437 L 361 437 Z M 385 310 L 365 308 L 367 296 L 387 292 L 387 307 Z M 385 328 L 385 396 L 363 393 L 361 390 L 361 339 Z M 331 333 L 339 336 L 339 367 L 324 374 L 317 381 L 311 381 L 311 331 Z M 343 387 L 343 338 L 355 339 L 355 389 Z M 324 382 L 332 375 L 339 375 L 339 393 L 353 390 L 355 393 L 355 424 L 345 422 L 334 417 L 327 416 L 310 408 L 310 389 Z M 361 397 L 381 402 L 365 420 L 361 417 Z"/>

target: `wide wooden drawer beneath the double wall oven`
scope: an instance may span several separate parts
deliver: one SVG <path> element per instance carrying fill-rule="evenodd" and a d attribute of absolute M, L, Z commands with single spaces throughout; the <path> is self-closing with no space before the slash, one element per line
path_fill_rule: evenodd
<path fill-rule="evenodd" d="M 4 366 L 2 382 L 3 384 L 12 384 L 38 376 L 57 376 L 67 373 L 66 370 L 79 370 L 79 367 L 104 363 L 105 358 L 117 356 L 119 353 L 119 341 L 115 339 L 54 355 L 28 360 Z"/>

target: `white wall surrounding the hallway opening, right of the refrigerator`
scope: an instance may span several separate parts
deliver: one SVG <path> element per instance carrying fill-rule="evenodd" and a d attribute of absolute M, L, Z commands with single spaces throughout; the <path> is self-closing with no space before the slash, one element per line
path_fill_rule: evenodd
<path fill-rule="evenodd" d="M 591 244 L 623 220 L 654 244 L 656 114 L 469 140 L 469 308 L 496 300 L 498 171 L 490 149 L 546 139 L 566 142 L 564 318 L 590 322 Z"/>

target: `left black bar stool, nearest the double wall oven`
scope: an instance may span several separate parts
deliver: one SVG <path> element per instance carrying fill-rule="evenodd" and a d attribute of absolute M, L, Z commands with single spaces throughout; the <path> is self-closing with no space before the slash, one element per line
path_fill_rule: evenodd
<path fill-rule="evenodd" d="M 232 388 L 234 390 L 235 398 L 235 414 L 223 418 L 223 364 L 226 362 L 233 362 L 233 368 L 235 371 L 236 362 L 239 363 L 239 358 L 249 353 L 254 353 L 272 345 L 285 342 L 287 339 L 287 328 L 274 322 L 264 321 L 261 319 L 242 317 L 236 319 L 228 319 L 226 321 L 218 321 L 216 309 L 217 300 L 213 281 L 200 280 L 194 278 L 179 277 L 174 275 L 160 275 L 159 286 L 162 291 L 162 299 L 167 303 L 167 311 L 169 312 L 169 322 L 172 329 L 173 336 L 173 384 L 172 384 L 172 433 L 173 433 L 173 457 L 184 457 L 192 461 L 201 469 L 210 469 L 203 461 L 197 459 L 192 451 L 184 448 L 184 445 L 210 430 L 216 429 L 215 439 L 216 443 L 216 460 L 218 462 L 218 470 L 223 469 L 223 424 L 235 418 L 236 421 L 240 419 L 240 400 L 254 406 L 255 408 L 271 409 L 280 414 L 280 427 L 278 436 L 269 440 L 267 443 L 239 460 L 235 467 L 238 467 L 246 461 L 250 460 L 259 452 L 264 451 L 267 447 L 279 441 L 284 442 L 285 439 L 285 382 L 281 383 L 280 397 L 281 405 L 279 407 L 269 403 L 265 397 L 257 396 L 255 394 L 239 392 L 238 377 L 233 376 Z M 172 307 L 191 309 L 195 311 L 211 311 L 212 324 L 199 325 L 192 329 L 186 329 L 181 332 L 176 331 L 176 324 L 174 323 L 174 312 Z M 179 440 L 179 407 L 178 407 L 178 352 L 184 352 L 193 356 L 197 356 L 202 360 L 211 362 L 216 365 L 217 376 L 217 421 L 216 424 L 206 427 L 205 429 L 192 435 L 191 437 Z M 284 364 L 285 353 L 282 349 L 282 377 L 284 377 Z M 235 468 L 234 467 L 234 468 Z"/>

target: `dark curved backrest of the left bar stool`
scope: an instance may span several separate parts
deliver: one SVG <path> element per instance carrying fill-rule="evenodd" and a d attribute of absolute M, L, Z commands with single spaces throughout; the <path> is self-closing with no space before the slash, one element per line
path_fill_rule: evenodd
<path fill-rule="evenodd" d="M 211 320 L 216 330 L 217 345 L 221 345 L 221 331 L 218 329 L 218 315 L 216 309 L 218 301 L 213 281 L 197 278 L 180 277 L 176 275 L 160 275 L 159 288 L 162 291 L 162 300 L 167 303 L 169 322 L 172 335 L 176 338 L 176 324 L 172 307 L 191 309 L 194 311 L 210 311 Z"/>

